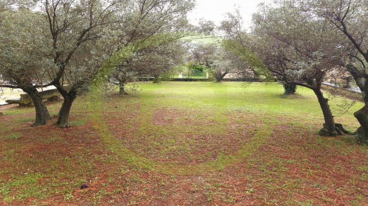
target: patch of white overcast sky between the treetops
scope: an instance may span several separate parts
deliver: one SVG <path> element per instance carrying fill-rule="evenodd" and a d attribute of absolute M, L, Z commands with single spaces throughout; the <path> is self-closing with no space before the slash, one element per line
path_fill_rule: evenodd
<path fill-rule="evenodd" d="M 252 14 L 257 11 L 257 5 L 261 2 L 272 0 L 197 0 L 197 6 L 188 14 L 188 19 L 194 25 L 203 18 L 219 26 L 226 12 L 234 12 L 235 8 L 239 8 L 244 28 L 249 28 Z"/>

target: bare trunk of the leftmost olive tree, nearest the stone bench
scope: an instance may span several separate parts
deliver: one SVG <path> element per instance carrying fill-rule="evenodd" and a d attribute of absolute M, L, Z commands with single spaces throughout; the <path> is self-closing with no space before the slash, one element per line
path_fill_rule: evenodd
<path fill-rule="evenodd" d="M 31 127 L 46 125 L 46 122 L 51 120 L 50 113 L 47 110 L 45 103 L 42 101 L 37 89 L 33 87 L 27 87 L 23 88 L 23 91 L 25 91 L 31 97 L 34 108 L 36 109 L 36 120 Z"/>

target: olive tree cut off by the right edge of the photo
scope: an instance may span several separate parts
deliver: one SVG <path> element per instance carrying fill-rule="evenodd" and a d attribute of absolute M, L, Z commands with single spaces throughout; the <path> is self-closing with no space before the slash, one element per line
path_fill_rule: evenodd
<path fill-rule="evenodd" d="M 365 105 L 354 113 L 361 127 L 361 143 L 368 144 L 368 1 L 367 0 L 309 0 L 304 8 L 322 17 L 335 27 L 335 38 L 343 38 L 346 70 L 362 91 Z"/>

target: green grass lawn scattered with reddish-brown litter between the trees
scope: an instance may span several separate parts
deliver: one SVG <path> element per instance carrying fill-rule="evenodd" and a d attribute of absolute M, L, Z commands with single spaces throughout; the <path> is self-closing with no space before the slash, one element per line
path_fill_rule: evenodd
<path fill-rule="evenodd" d="M 277 83 L 139 83 L 102 104 L 79 98 L 68 129 L 55 118 L 30 128 L 32 108 L 0 108 L 0 205 L 367 205 L 368 148 L 317 135 L 312 91 L 282 93 Z M 350 101 L 325 95 L 334 114 Z M 60 104 L 48 104 L 52 115 Z M 335 121 L 354 131 L 362 106 Z"/>

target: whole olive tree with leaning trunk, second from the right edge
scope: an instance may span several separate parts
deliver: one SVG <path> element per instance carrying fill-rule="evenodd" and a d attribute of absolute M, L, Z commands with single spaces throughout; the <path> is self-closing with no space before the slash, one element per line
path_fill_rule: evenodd
<path fill-rule="evenodd" d="M 328 99 L 321 84 L 330 71 L 340 68 L 342 49 L 327 21 L 303 12 L 297 1 L 281 1 L 277 7 L 264 5 L 254 15 L 254 34 L 264 41 L 262 57 L 269 70 L 286 82 L 313 90 L 320 104 L 324 125 L 322 136 L 336 136 L 345 131 L 335 124 Z"/>

